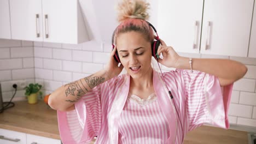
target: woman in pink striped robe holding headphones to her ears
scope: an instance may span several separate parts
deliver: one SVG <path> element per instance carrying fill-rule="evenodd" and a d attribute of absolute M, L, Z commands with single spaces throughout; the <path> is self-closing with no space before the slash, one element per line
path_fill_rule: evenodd
<path fill-rule="evenodd" d="M 88 143 L 95 136 L 96 143 L 182 143 L 203 123 L 229 128 L 232 85 L 246 66 L 228 59 L 191 61 L 160 40 L 156 50 L 162 58 L 153 60 L 176 70 L 156 72 L 148 7 L 141 0 L 119 4 L 120 25 L 107 67 L 50 95 L 63 143 Z M 123 68 L 127 74 L 119 75 Z"/>

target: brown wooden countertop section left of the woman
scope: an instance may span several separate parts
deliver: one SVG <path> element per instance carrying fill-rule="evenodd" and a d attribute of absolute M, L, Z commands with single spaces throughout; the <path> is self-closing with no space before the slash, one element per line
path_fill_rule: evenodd
<path fill-rule="evenodd" d="M 0 128 L 60 140 L 57 111 L 44 101 L 34 105 L 27 101 L 14 103 L 14 107 L 0 113 Z"/>

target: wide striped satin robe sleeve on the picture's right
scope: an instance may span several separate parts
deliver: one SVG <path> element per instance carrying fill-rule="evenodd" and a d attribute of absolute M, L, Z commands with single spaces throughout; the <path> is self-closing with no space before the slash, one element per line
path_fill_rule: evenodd
<path fill-rule="evenodd" d="M 201 71 L 180 70 L 185 91 L 188 131 L 204 123 L 228 129 L 228 110 L 234 83 L 220 87 L 218 77 Z"/>

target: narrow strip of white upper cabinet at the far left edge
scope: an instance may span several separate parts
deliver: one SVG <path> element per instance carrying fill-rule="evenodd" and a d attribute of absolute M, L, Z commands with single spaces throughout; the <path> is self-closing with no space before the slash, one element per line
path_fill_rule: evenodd
<path fill-rule="evenodd" d="M 10 39 L 9 0 L 0 1 L 0 39 Z"/>

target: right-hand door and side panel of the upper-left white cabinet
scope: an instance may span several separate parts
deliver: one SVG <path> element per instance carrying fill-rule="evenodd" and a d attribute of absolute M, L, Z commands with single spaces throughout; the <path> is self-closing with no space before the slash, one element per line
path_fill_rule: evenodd
<path fill-rule="evenodd" d="M 77 44 L 88 40 L 78 1 L 43 0 L 44 41 Z"/>

